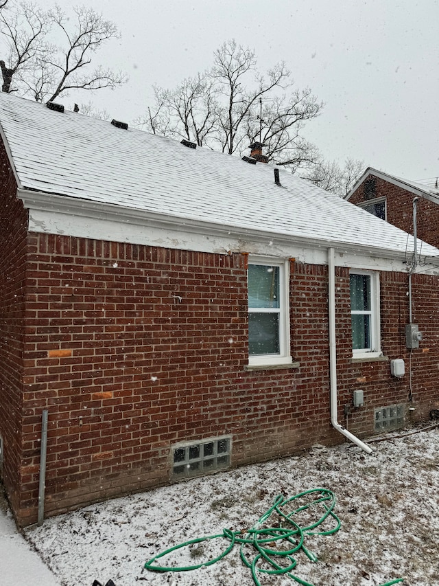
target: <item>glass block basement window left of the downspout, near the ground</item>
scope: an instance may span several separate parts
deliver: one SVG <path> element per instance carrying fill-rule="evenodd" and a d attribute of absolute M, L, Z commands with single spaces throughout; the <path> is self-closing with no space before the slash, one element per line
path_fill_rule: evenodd
<path fill-rule="evenodd" d="M 173 448 L 172 476 L 191 477 L 230 465 L 230 437 L 202 440 Z"/>

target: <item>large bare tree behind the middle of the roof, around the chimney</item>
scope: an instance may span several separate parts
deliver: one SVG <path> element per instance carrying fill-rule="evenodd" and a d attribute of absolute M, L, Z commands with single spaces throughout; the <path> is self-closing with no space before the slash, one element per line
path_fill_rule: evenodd
<path fill-rule="evenodd" d="M 309 89 L 294 88 L 285 63 L 265 75 L 256 66 L 252 49 L 227 41 L 215 51 L 211 69 L 172 90 L 155 87 L 154 109 L 137 122 L 153 133 L 185 137 L 230 155 L 244 154 L 261 139 L 269 160 L 293 169 L 315 161 L 317 150 L 301 131 L 322 103 Z"/>

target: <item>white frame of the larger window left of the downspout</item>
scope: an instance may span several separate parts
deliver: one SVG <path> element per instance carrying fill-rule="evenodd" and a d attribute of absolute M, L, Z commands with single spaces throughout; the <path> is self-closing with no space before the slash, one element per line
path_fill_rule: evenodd
<path fill-rule="evenodd" d="M 252 354 L 248 357 L 248 365 L 258 366 L 282 366 L 293 363 L 289 340 L 289 261 L 278 258 L 266 258 L 250 256 L 248 264 L 257 264 L 267 267 L 278 267 L 279 271 L 279 352 L 278 354 Z M 272 309 L 267 310 L 272 313 Z M 261 308 L 248 307 L 248 313 L 264 313 Z"/>

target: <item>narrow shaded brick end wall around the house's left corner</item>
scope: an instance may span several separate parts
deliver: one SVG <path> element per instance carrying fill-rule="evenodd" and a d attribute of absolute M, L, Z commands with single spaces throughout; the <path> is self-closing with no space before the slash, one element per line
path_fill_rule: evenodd
<path fill-rule="evenodd" d="M 0 436 L 3 484 L 19 504 L 23 391 L 24 281 L 27 214 L 16 200 L 16 182 L 0 145 Z"/>

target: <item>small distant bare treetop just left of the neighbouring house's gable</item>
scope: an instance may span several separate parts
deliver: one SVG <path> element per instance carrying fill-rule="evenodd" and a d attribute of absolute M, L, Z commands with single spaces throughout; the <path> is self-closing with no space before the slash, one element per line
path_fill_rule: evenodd
<path fill-rule="evenodd" d="M 341 167 L 336 161 L 321 159 L 305 179 L 324 190 L 344 197 L 351 191 L 353 184 L 363 171 L 364 161 L 346 159 L 344 167 Z"/>

